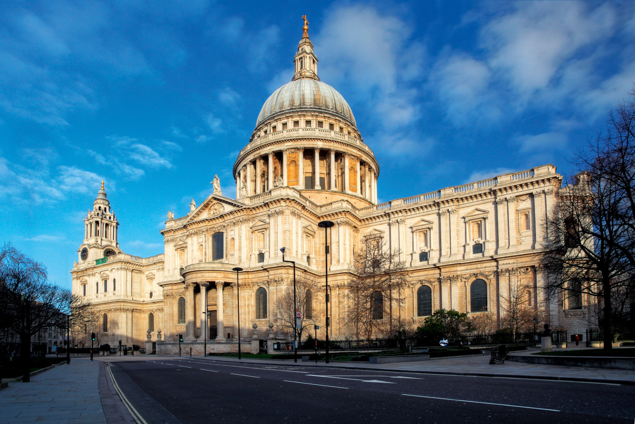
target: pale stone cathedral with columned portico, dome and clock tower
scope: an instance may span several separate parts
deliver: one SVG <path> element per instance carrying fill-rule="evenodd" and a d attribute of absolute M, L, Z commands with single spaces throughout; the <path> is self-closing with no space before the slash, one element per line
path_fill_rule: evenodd
<path fill-rule="evenodd" d="M 548 299 L 542 288 L 542 222 L 563 181 L 556 167 L 378 204 L 380 165 L 342 95 L 319 80 L 307 30 L 293 79 L 265 101 L 238 154 L 236 200 L 215 177 L 213 193 L 199 205 L 192 200 L 189 214 L 168 212 L 164 253 L 142 258 L 119 248 L 119 222 L 102 184 L 71 271 L 73 292 L 99 311 L 98 342 L 178 354 L 182 335 L 185 349 L 202 354 L 205 344 L 208 352 L 236 351 L 238 337 L 284 338 L 274 329 L 274 305 L 293 285 L 293 266 L 282 247 L 298 276 L 318 281 L 314 308 L 326 302 L 328 269 L 329 334 L 350 337 L 347 286 L 369 236 L 405 266 L 399 316 L 412 328 L 440 308 L 490 314 L 500 326 L 522 287 L 526 307 L 544 309 L 552 327 L 584 333 L 586 302 Z M 325 220 L 334 223 L 328 244 L 318 228 Z M 243 269 L 239 288 L 235 267 Z M 319 338 L 325 322 L 315 319 Z"/>

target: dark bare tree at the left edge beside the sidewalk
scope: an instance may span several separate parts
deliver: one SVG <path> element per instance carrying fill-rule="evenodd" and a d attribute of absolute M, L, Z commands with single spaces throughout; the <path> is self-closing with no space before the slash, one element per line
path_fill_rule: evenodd
<path fill-rule="evenodd" d="M 93 318 L 88 300 L 48 282 L 46 267 L 10 243 L 0 248 L 0 304 L 3 323 L 20 336 L 23 382 L 29 382 L 32 335 Z"/>

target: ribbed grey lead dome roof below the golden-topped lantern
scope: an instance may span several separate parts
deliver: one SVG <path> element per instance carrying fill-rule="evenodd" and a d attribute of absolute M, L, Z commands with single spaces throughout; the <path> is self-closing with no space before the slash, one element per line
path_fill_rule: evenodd
<path fill-rule="evenodd" d="M 295 109 L 334 113 L 357 126 L 351 106 L 346 103 L 342 94 L 328 84 L 311 78 L 291 81 L 274 91 L 262 106 L 256 126 L 265 119 Z"/>

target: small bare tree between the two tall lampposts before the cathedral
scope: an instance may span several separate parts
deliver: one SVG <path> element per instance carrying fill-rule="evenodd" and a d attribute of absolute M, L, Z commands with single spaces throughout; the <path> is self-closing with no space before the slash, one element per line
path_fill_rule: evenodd
<path fill-rule="evenodd" d="M 302 314 L 301 326 L 297 328 L 298 342 L 302 340 L 305 330 L 312 330 L 315 323 L 319 323 L 323 314 L 323 308 L 319 302 L 319 286 L 315 279 L 310 277 L 296 278 L 295 305 Z M 286 338 L 293 337 L 296 312 L 293 309 L 293 281 L 288 285 L 281 296 L 277 297 L 274 307 L 274 323 L 277 330 L 282 331 Z"/>

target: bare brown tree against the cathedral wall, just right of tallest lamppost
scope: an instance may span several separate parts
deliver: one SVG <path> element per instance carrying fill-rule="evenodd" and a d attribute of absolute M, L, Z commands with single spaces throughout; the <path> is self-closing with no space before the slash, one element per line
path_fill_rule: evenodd
<path fill-rule="evenodd" d="M 392 252 L 383 238 L 366 236 L 355 255 L 354 276 L 347 290 L 346 321 L 357 338 L 373 333 L 393 333 L 393 306 L 404 304 L 406 264 L 399 260 L 399 250 Z M 398 309 L 398 311 L 399 311 Z"/>

